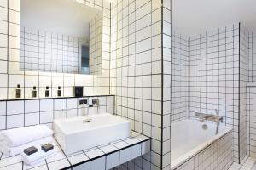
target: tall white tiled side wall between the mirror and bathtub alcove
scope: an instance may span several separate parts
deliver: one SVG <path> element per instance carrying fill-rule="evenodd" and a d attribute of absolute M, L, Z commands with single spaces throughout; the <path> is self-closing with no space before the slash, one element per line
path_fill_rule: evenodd
<path fill-rule="evenodd" d="M 116 95 L 116 113 L 129 118 L 136 132 L 152 138 L 152 151 L 138 169 L 162 167 L 161 11 L 160 0 L 114 0 L 111 6 L 111 94 Z M 166 134 L 168 139 L 170 133 Z"/>

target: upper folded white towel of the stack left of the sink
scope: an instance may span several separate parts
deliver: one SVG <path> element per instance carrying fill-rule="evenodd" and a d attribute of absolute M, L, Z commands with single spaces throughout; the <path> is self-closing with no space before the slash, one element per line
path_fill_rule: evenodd
<path fill-rule="evenodd" d="M 0 141 L 9 147 L 26 144 L 33 140 L 52 136 L 53 131 L 46 125 L 36 125 L 32 127 L 20 127 L 1 131 Z"/>

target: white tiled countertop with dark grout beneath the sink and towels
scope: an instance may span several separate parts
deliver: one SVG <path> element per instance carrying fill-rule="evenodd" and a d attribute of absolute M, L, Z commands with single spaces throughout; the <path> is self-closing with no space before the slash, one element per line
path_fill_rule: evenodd
<path fill-rule="evenodd" d="M 59 144 L 54 141 L 57 154 L 37 165 L 27 166 L 18 156 L 4 156 L 0 153 L 0 169 L 2 170 L 107 170 L 131 161 L 150 151 L 150 138 L 131 131 L 131 136 L 109 144 L 102 144 L 89 150 L 81 150 L 66 155 Z"/>

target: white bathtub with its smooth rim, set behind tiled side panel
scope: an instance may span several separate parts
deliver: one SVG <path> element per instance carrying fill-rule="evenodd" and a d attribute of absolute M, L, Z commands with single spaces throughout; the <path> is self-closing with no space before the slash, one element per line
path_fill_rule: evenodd
<path fill-rule="evenodd" d="M 207 129 L 202 128 L 207 124 Z M 195 156 L 209 144 L 232 130 L 231 127 L 219 126 L 216 135 L 216 124 L 183 120 L 171 124 L 171 170 Z"/>

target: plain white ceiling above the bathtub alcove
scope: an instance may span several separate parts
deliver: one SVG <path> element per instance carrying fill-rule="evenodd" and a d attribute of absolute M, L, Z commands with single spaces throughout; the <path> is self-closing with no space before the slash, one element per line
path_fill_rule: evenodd
<path fill-rule="evenodd" d="M 256 0 L 172 0 L 172 28 L 185 36 L 237 22 L 256 31 Z"/>

